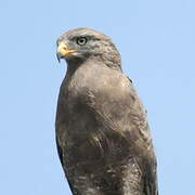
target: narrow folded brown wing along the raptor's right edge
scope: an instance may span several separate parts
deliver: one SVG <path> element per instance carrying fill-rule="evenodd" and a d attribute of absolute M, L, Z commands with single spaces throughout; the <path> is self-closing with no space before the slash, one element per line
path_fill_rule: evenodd
<path fill-rule="evenodd" d="M 139 139 L 136 141 L 138 148 L 143 155 L 142 167 L 143 167 L 143 184 L 144 184 L 144 195 L 158 195 L 158 185 L 157 185 L 157 161 L 155 156 L 155 151 L 152 143 L 152 136 L 150 131 L 150 126 L 146 117 L 146 109 L 144 108 L 140 98 L 138 96 L 135 90 L 132 86 L 132 80 L 130 81 L 130 92 L 134 96 L 134 104 L 136 105 L 133 110 L 133 115 L 129 117 L 129 121 L 132 119 L 135 123 L 134 133 L 139 133 Z M 134 116 L 134 117 L 132 117 Z M 130 125 L 129 125 L 130 126 Z M 139 130 L 139 131 L 138 131 Z"/>

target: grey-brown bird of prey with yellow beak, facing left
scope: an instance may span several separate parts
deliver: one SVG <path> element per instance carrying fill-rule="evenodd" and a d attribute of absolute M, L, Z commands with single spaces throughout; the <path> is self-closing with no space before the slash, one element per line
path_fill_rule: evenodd
<path fill-rule="evenodd" d="M 112 40 L 89 28 L 57 39 L 65 58 L 56 110 L 58 156 L 74 195 L 157 195 L 146 112 Z"/>

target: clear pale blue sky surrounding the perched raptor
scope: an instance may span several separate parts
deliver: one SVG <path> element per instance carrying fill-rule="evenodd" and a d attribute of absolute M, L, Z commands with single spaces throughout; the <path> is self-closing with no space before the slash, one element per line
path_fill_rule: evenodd
<path fill-rule="evenodd" d="M 72 194 L 55 147 L 55 40 L 76 27 L 117 44 L 148 110 L 160 195 L 195 195 L 194 0 L 1 0 L 0 194 Z"/>

